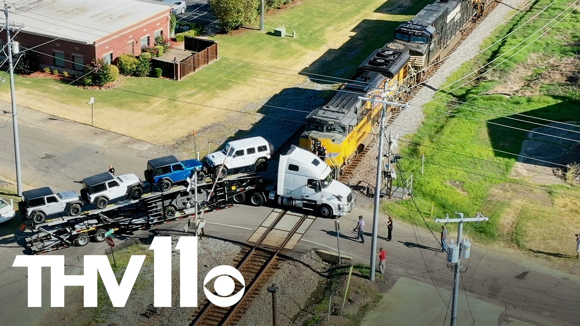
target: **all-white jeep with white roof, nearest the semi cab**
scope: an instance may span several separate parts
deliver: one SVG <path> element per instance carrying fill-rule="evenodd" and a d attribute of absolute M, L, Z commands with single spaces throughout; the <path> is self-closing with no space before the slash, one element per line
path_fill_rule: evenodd
<path fill-rule="evenodd" d="M 216 178 L 223 178 L 231 173 L 266 171 L 272 154 L 274 148 L 270 142 L 252 137 L 227 143 L 223 150 L 207 155 L 205 163 Z"/>

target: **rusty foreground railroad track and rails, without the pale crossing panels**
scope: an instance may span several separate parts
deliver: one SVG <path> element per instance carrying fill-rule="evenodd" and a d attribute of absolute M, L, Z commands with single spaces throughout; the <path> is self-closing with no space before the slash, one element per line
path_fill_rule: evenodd
<path fill-rule="evenodd" d="M 240 271 L 244 280 L 248 283 L 245 287 L 245 292 L 240 301 L 231 307 L 219 307 L 213 305 L 211 302 L 206 302 L 201 311 L 195 316 L 190 326 L 226 326 L 236 325 L 245 311 L 249 309 L 252 301 L 259 295 L 263 285 L 269 279 L 274 271 L 278 270 L 278 262 L 280 262 L 280 251 L 291 240 L 292 236 L 298 231 L 302 223 L 305 222 L 307 215 L 300 216 L 298 222 L 288 232 L 288 236 L 282 243 L 273 250 L 264 248 L 264 240 L 271 230 L 276 227 L 278 222 L 284 218 L 288 211 L 281 210 L 276 216 L 276 219 L 264 231 L 262 236 L 256 242 L 256 245 L 246 252 L 238 256 L 236 269 Z M 244 284 L 237 282 L 234 289 L 234 294 L 240 291 Z"/>

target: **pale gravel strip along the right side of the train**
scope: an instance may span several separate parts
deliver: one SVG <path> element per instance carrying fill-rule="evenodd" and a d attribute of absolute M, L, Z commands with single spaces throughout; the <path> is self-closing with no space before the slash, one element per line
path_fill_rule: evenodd
<path fill-rule="evenodd" d="M 529 1 L 527 0 L 506 0 L 499 3 L 490 15 L 488 15 L 488 17 L 475 28 L 472 34 L 463 41 L 459 48 L 452 53 L 452 55 L 449 55 L 447 60 L 445 60 L 441 67 L 438 68 L 436 74 L 426 82 L 426 85 L 423 86 L 415 98 L 411 100 L 411 102 L 413 102 L 411 106 L 398 114 L 397 117 L 386 126 L 385 135 L 387 135 L 387 137 L 391 135 L 394 139 L 393 145 L 391 146 L 391 151 L 393 151 L 393 153 L 397 153 L 398 142 L 396 139 L 415 133 L 419 129 L 420 125 L 425 120 L 425 114 L 423 114 L 422 110 L 423 104 L 432 100 L 437 89 L 444 84 L 449 75 L 458 70 L 458 63 L 467 61 L 476 55 L 477 52 L 480 51 L 481 44 L 485 38 L 488 37 L 491 30 L 502 24 L 510 15 L 512 15 L 513 8 L 522 8 L 528 2 Z M 385 144 L 385 153 L 387 149 L 388 145 Z M 368 183 L 374 186 L 376 180 L 377 155 L 378 146 L 376 143 L 372 143 L 367 155 L 362 158 L 362 161 L 358 164 L 356 169 L 354 169 L 350 179 L 345 180 L 345 182 L 356 184 L 358 181 L 362 180 L 362 184 Z"/>

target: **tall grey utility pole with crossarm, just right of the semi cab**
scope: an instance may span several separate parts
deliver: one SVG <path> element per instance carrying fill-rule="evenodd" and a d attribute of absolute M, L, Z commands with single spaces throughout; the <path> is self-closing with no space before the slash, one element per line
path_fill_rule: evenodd
<path fill-rule="evenodd" d="M 375 281 L 375 269 L 376 269 L 376 237 L 379 231 L 379 204 L 380 204 L 380 176 L 383 171 L 383 143 L 385 143 L 385 116 L 387 111 L 387 106 L 400 106 L 408 107 L 409 104 L 401 104 L 395 102 L 387 102 L 383 100 L 371 99 L 368 97 L 359 96 L 358 99 L 373 102 L 382 103 L 383 110 L 380 113 L 380 123 L 379 123 L 379 157 L 376 162 L 376 184 L 375 184 L 375 211 L 372 215 L 372 238 L 371 238 L 371 273 L 369 279 Z M 390 150 L 389 150 L 390 151 Z"/>

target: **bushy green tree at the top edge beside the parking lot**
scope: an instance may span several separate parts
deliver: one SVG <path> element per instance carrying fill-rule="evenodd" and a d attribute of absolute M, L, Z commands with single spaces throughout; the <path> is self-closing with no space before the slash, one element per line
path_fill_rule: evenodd
<path fill-rule="evenodd" d="M 228 32 L 256 20 L 259 4 L 260 0 L 209 0 L 220 27 Z"/>

